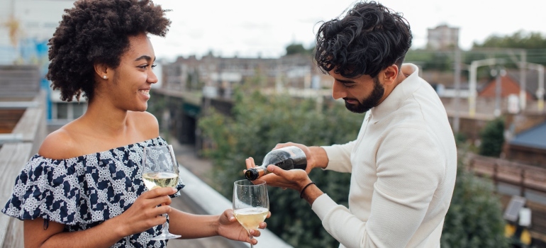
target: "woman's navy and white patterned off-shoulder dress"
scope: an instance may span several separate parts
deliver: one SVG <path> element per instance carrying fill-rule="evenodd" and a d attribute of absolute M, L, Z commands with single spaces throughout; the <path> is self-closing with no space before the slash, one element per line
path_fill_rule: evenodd
<path fill-rule="evenodd" d="M 43 218 L 65 224 L 65 232 L 86 230 L 127 210 L 144 191 L 143 148 L 167 145 L 162 137 L 70 159 L 35 154 L 15 180 L 2 213 L 19 220 Z M 179 179 L 177 189 L 184 187 Z M 174 194 L 179 196 L 179 192 Z M 112 247 L 166 247 L 153 241 L 162 225 L 130 235 Z"/>

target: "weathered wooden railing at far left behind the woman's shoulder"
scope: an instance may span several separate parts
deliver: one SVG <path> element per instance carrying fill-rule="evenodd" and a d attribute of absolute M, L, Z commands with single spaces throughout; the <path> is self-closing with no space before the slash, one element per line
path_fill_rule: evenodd
<path fill-rule="evenodd" d="M 6 139 L 0 147 L 0 208 L 11 196 L 14 179 L 30 156 L 38 152 L 40 143 L 47 135 L 45 121 L 45 94 L 40 92 L 28 104 L 21 101 L 9 106 L 0 105 L 0 111 L 24 111 L 11 133 L 13 139 Z M 32 103 L 32 104 L 30 104 Z M 2 120 L 0 120 L 1 122 Z M 0 247 L 23 247 L 23 222 L 8 215 L 0 214 Z"/>

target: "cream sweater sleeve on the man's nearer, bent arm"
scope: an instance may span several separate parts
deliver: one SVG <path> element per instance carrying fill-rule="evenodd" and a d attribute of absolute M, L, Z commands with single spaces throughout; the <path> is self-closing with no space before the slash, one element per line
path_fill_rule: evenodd
<path fill-rule="evenodd" d="M 312 209 L 325 230 L 347 248 L 406 247 L 445 174 L 442 157 L 425 130 L 394 129 L 377 151 L 377 181 L 367 221 L 325 194 L 316 199 Z M 358 175 L 352 177 L 352 184 L 362 180 Z"/>

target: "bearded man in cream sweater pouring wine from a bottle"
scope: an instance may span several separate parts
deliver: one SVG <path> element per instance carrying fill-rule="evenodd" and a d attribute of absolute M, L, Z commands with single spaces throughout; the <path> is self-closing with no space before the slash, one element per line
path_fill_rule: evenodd
<path fill-rule="evenodd" d="M 279 144 L 306 152 L 306 171 L 269 165 L 262 177 L 301 192 L 340 247 L 440 247 L 457 151 L 440 98 L 418 67 L 402 64 L 411 38 L 401 14 L 374 1 L 323 23 L 315 58 L 334 79 L 333 98 L 366 112 L 360 133 L 344 145 Z M 311 182 L 313 168 L 351 173 L 348 209 Z"/>

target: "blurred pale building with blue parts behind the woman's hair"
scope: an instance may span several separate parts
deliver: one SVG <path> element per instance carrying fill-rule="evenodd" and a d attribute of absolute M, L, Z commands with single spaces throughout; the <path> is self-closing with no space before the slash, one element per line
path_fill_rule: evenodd
<path fill-rule="evenodd" d="M 82 115 L 87 104 L 60 101 L 45 79 L 48 70 L 48 40 L 55 33 L 65 9 L 74 0 L 0 0 L 0 64 L 32 64 L 46 90 L 46 118 L 50 125 L 63 125 Z"/>

